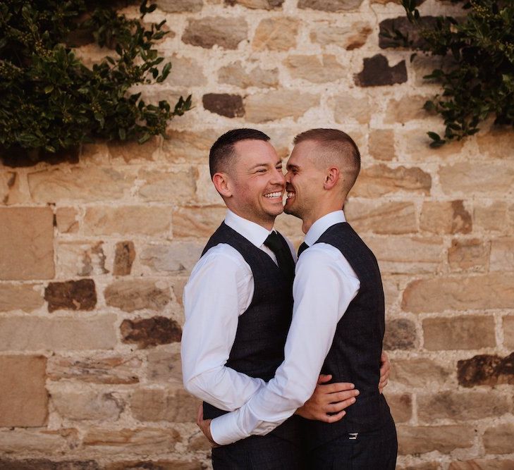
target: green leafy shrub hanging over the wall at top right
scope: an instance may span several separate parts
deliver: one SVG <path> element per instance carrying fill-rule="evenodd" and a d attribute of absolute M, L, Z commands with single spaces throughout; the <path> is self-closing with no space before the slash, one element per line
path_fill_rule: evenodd
<path fill-rule="evenodd" d="M 488 116 L 501 125 L 514 125 L 514 1 L 452 0 L 463 4 L 462 17 L 440 16 L 427 27 L 415 0 L 403 0 L 410 22 L 424 42 L 423 51 L 451 58 L 449 66 L 426 79 L 441 84 L 442 94 L 424 104 L 444 119 L 443 136 L 429 132 L 432 147 L 473 135 Z M 408 35 L 394 38 L 410 45 Z M 390 36 L 391 37 L 391 36 Z"/>

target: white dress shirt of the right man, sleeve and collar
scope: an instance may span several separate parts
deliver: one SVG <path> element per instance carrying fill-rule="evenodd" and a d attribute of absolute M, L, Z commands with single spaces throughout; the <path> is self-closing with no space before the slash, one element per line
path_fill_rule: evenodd
<path fill-rule="evenodd" d="M 266 386 L 256 387 L 243 407 L 212 420 L 216 443 L 226 445 L 252 434 L 267 434 L 312 395 L 337 323 L 360 288 L 355 271 L 337 248 L 314 245 L 328 228 L 344 221 L 343 211 L 331 212 L 314 222 L 305 235 L 310 248 L 296 265 L 285 359 L 275 377 Z"/>

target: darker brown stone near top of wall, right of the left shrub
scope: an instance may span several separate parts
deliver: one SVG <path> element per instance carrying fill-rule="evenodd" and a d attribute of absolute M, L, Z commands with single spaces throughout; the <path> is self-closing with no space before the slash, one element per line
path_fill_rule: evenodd
<path fill-rule="evenodd" d="M 247 35 L 248 25 L 243 18 L 209 16 L 189 20 L 182 35 L 182 42 L 204 49 L 212 49 L 214 45 L 224 49 L 237 49 L 238 44 L 246 39 Z"/>

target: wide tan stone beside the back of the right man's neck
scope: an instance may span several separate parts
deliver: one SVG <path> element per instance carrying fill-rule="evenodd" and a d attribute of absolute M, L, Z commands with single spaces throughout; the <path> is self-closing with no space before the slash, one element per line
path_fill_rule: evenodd
<path fill-rule="evenodd" d="M 350 195 L 374 198 L 400 191 L 430 194 L 431 187 L 432 176 L 421 168 L 390 168 L 384 163 L 379 163 L 362 168 Z"/>

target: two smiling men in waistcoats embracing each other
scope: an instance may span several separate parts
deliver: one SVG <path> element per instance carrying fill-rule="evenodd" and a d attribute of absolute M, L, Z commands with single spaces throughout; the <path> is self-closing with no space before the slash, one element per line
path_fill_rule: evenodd
<path fill-rule="evenodd" d="M 259 130 L 211 148 L 228 210 L 185 286 L 184 385 L 204 401 L 197 423 L 215 470 L 393 470 L 384 291 L 343 213 L 360 153 L 335 129 L 294 144 L 285 175 Z M 273 230 L 283 211 L 302 219 L 296 264 Z"/>

